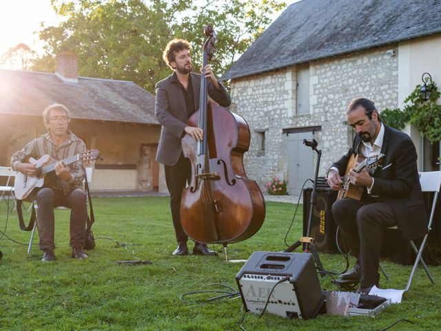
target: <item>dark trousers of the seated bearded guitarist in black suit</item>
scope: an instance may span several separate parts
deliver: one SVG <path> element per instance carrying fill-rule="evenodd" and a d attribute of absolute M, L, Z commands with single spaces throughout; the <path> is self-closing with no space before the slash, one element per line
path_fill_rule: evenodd
<path fill-rule="evenodd" d="M 397 225 L 391 206 L 369 197 L 340 199 L 332 205 L 332 214 L 361 266 L 360 286 L 378 285 L 384 229 Z"/>

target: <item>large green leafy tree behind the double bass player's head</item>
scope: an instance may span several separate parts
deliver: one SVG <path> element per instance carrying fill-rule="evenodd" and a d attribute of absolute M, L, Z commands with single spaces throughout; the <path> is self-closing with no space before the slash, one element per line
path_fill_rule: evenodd
<path fill-rule="evenodd" d="M 222 74 L 285 8 L 276 0 L 52 0 L 64 20 L 42 26 L 45 54 L 34 70 L 54 71 L 54 56 L 79 55 L 79 75 L 134 81 L 154 92 L 156 81 L 170 74 L 162 52 L 170 39 L 192 44 L 194 70 L 199 70 L 203 28 L 217 32 L 214 71 Z"/>

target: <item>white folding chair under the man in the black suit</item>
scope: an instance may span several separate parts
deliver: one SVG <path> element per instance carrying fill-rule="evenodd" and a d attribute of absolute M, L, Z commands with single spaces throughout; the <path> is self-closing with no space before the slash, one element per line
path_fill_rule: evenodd
<path fill-rule="evenodd" d="M 433 192 L 433 201 L 432 201 L 432 205 L 431 205 L 429 223 L 427 224 L 427 234 L 422 239 L 422 242 L 420 244 L 420 248 L 418 249 L 416 247 L 413 240 L 410 241 L 411 247 L 416 254 L 416 259 L 415 259 L 415 263 L 413 263 L 413 268 L 411 271 L 411 275 L 409 277 L 409 281 L 407 281 L 407 286 L 406 286 L 405 291 L 409 290 L 409 288 L 411 287 L 413 275 L 415 274 L 416 267 L 418 266 L 418 263 L 421 263 L 422 267 L 424 268 L 424 271 L 427 274 L 427 277 L 429 277 L 432 284 L 435 285 L 435 281 L 433 280 L 433 277 L 432 277 L 431 273 L 429 272 L 429 268 L 427 268 L 426 263 L 422 259 L 422 252 L 424 251 L 424 247 L 426 245 L 427 238 L 429 237 L 429 232 L 431 230 L 431 226 L 432 226 L 432 222 L 433 222 L 433 216 L 435 215 L 436 201 L 438 201 L 438 195 L 440 194 L 441 171 L 420 172 L 420 184 L 421 184 L 422 192 Z"/>

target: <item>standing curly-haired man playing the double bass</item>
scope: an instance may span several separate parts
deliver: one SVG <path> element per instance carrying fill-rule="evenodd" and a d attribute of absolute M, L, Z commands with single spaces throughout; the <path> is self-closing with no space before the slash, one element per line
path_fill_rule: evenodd
<path fill-rule="evenodd" d="M 174 255 L 188 254 L 187 234 L 181 225 L 181 194 L 191 177 L 191 165 L 183 157 L 181 139 L 185 134 L 200 141 L 203 130 L 187 126 L 187 119 L 196 111 L 199 105 L 201 74 L 192 72 L 191 47 L 188 41 L 173 39 L 163 52 L 165 63 L 174 71 L 172 75 L 156 83 L 155 113 L 161 123 L 161 138 L 159 139 L 156 161 L 164 164 L 165 181 L 170 192 L 170 208 L 176 241 L 178 247 Z M 227 107 L 231 103 L 225 87 L 219 83 L 212 69 L 205 66 L 207 90 L 209 97 L 220 106 Z M 204 243 L 195 243 L 193 254 L 217 255 L 209 250 Z"/>

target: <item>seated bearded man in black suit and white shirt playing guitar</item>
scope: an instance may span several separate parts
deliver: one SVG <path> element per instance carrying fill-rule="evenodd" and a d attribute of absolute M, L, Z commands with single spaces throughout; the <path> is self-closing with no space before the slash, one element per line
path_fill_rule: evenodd
<path fill-rule="evenodd" d="M 410 137 L 385 126 L 373 102 L 358 98 L 347 108 L 347 121 L 356 131 L 353 146 L 328 171 L 328 183 L 340 190 L 340 176 L 347 172 L 351 185 L 362 188 L 360 198 L 338 199 L 332 214 L 357 262 L 340 279 L 360 282 L 359 293 L 368 294 L 378 285 L 380 248 L 385 228 L 398 225 L 406 239 L 422 237 L 427 232 L 421 186 L 418 178 L 417 154 Z M 353 155 L 381 155 L 382 167 L 374 172 L 360 172 L 348 167 Z M 347 169 L 349 168 L 349 169 Z"/>

